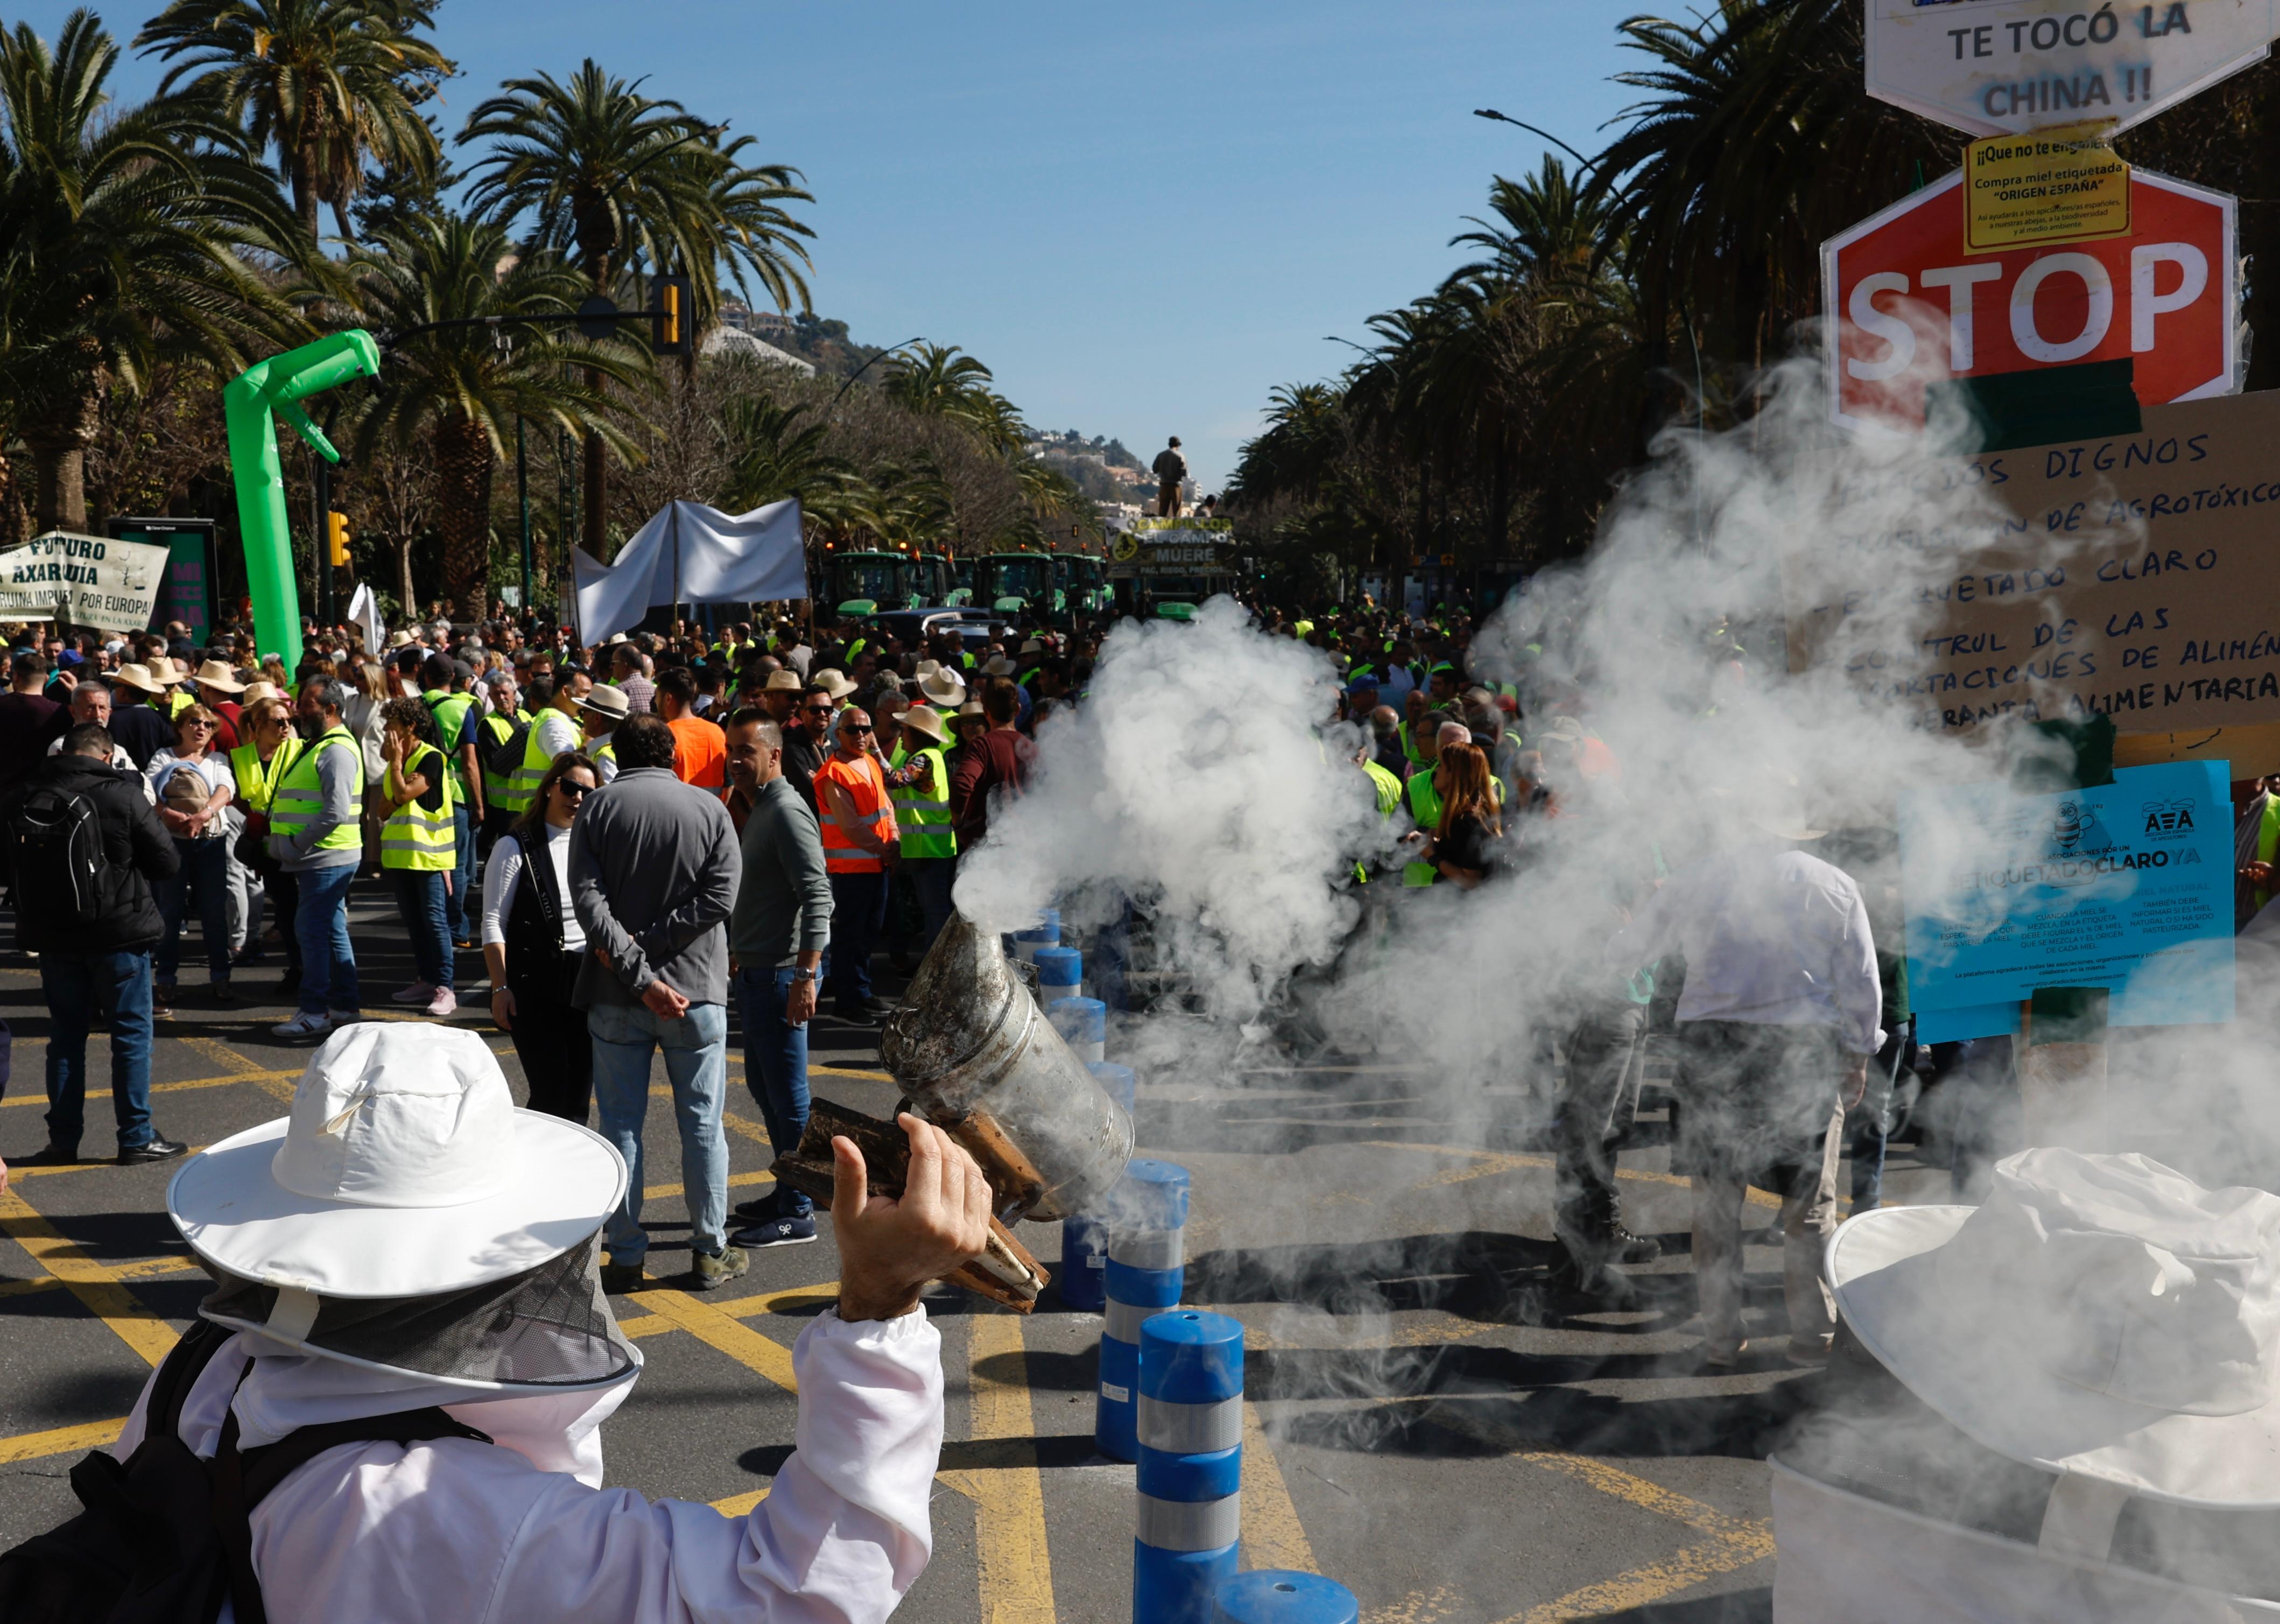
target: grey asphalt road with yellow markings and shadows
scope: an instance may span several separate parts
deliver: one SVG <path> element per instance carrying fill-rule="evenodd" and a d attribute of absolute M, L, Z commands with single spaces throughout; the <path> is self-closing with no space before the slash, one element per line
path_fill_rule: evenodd
<path fill-rule="evenodd" d="M 367 1006 L 410 981 L 401 928 L 358 894 Z M 479 972 L 472 956 L 463 965 Z M 267 997 L 276 965 L 239 972 Z M 280 1115 L 306 1045 L 269 1038 L 280 1001 L 203 1008 L 185 967 L 162 1022 L 155 1120 L 214 1143 Z M 891 990 L 894 979 L 882 985 Z M 506 1038 L 479 1015 L 518 1086 Z M 46 1008 L 23 956 L 0 960 L 14 1081 L 0 1154 L 46 1140 Z M 1115 1058 L 1115 1049 L 1110 1051 Z M 107 1058 L 91 1054 L 87 1150 L 109 1145 Z M 814 1090 L 871 1113 L 896 1090 L 876 1033 L 823 1020 Z M 768 1166 L 759 1111 L 730 1067 L 730 1168 L 743 1200 Z M 663 1067 L 657 1067 L 663 1093 Z M 1781 1357 L 1778 1252 L 1753 1248 L 1751 1305 L 1774 1357 L 1696 1373 L 1687 1318 L 1687 1193 L 1655 1122 L 1623 1156 L 1626 1218 L 1667 1257 L 1610 1307 L 1562 1289 L 1550 1156 L 1525 1079 L 1452 1099 L 1395 1065 L 1275 1072 L 1233 1056 L 1215 1074 L 1142 1077 L 1140 1143 L 1195 1177 L 1188 1302 L 1249 1337 L 1245 1565 L 1350 1585 L 1373 1624 L 1619 1617 L 1740 1624 L 1769 1617 L 1762 1453 L 1817 1375 Z M 116 1437 L 150 1364 L 189 1323 L 203 1275 L 166 1223 L 173 1166 L 23 1170 L 0 1200 L 0 1544 L 75 1510 L 66 1471 Z M 832 1298 L 830 1223 L 814 1245 L 755 1254 L 716 1293 L 684 1291 L 686 1213 L 668 1102 L 650 1113 L 654 1284 L 618 1298 L 648 1371 L 604 1432 L 609 1476 L 650 1496 L 741 1515 L 793 1439 L 789 1348 Z M 1899 1188 L 1940 1179 L 1906 1161 Z M 1772 1197 L 1753 1195 L 1758 1220 Z M 1024 1225 L 1051 1268 L 1053 1227 Z M 1092 1448 L 1101 1321 L 1053 1296 L 1035 1316 L 937 1289 L 948 1432 L 935 1560 L 898 1613 L 914 1624 L 1051 1624 L 1131 1613 L 1133 1471 Z"/>

